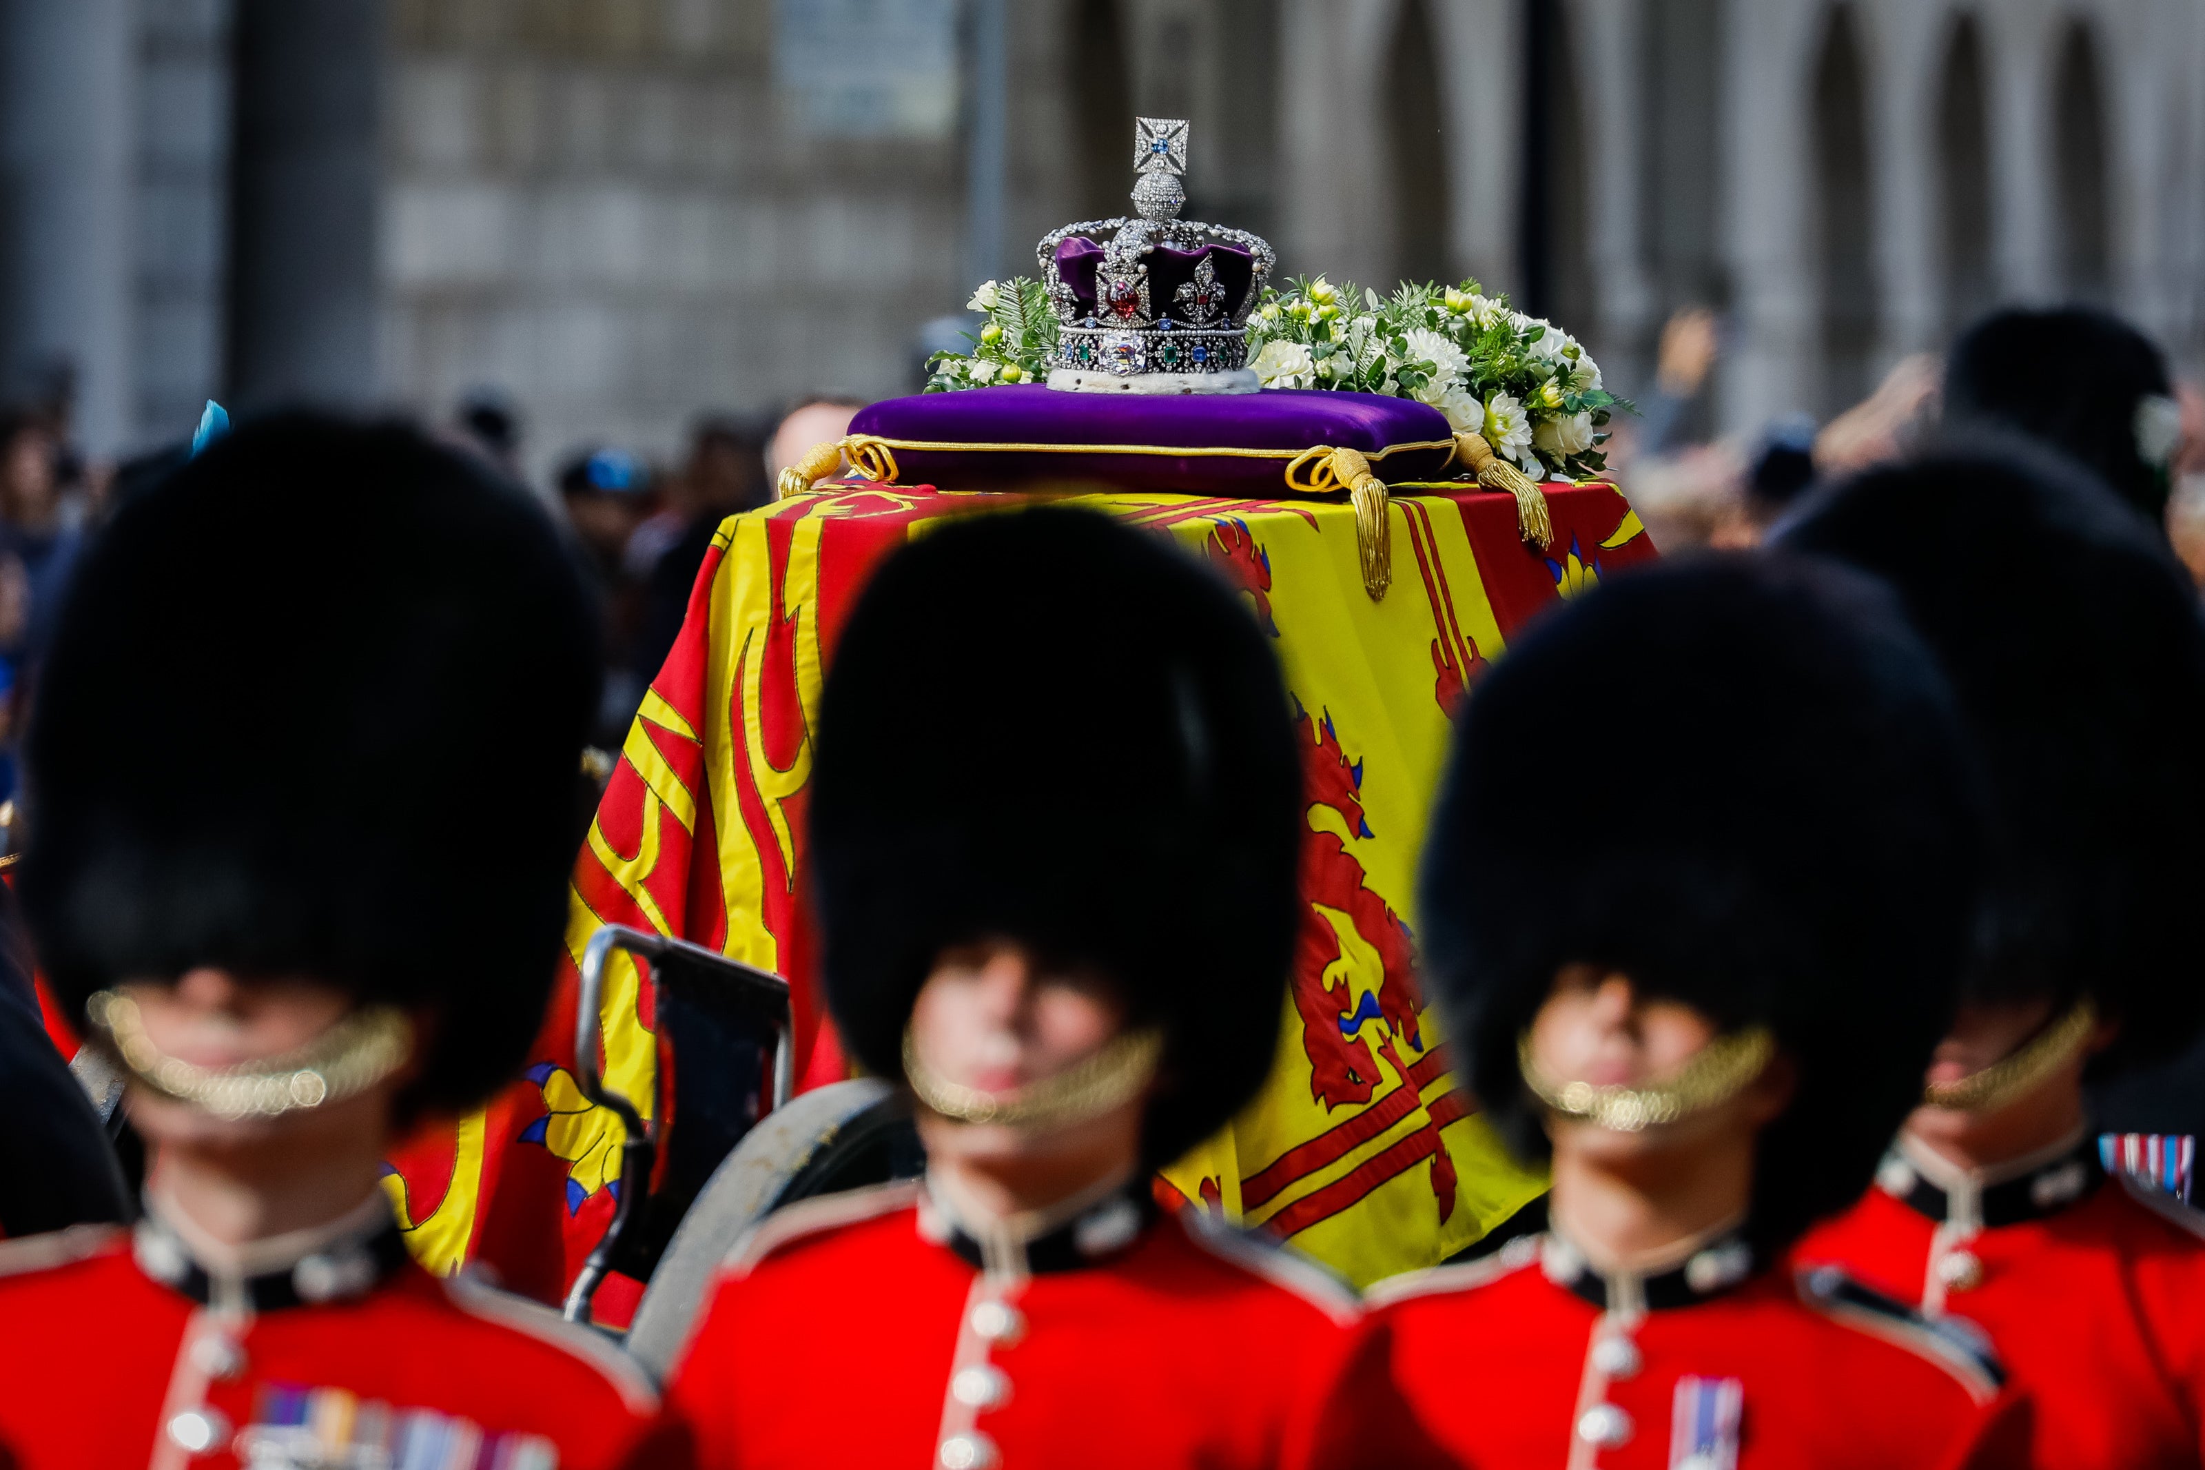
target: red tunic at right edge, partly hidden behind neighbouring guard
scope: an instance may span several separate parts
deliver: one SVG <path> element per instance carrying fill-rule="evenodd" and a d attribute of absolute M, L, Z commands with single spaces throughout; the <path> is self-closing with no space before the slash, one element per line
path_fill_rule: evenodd
<path fill-rule="evenodd" d="M 2046 1470 L 2205 1463 L 2205 1217 L 2108 1179 L 2088 1137 L 1969 1175 L 1901 1144 L 1799 1245 L 1976 1322 L 2029 1393 Z"/>

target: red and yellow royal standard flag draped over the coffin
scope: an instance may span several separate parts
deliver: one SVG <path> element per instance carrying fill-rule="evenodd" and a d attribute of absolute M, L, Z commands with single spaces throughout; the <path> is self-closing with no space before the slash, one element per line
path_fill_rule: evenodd
<path fill-rule="evenodd" d="M 567 974 L 529 1080 L 397 1164 L 392 1188 L 428 1265 L 454 1269 L 481 1254 L 507 1283 L 553 1298 L 611 1219 L 622 1126 L 582 1102 L 571 1076 L 573 963 L 600 923 L 677 934 L 792 976 L 798 1076 L 842 1076 L 803 904 L 811 721 L 833 637 L 882 555 L 935 518 L 1017 496 L 827 491 L 721 527 L 576 866 Z M 1449 710 L 1541 606 L 1652 547 L 1607 485 L 1546 489 L 1546 551 L 1519 538 L 1508 494 L 1396 494 L 1396 584 L 1372 602 L 1347 502 L 1080 500 L 1171 536 L 1244 591 L 1277 639 L 1308 769 L 1305 908 L 1277 1071 L 1257 1106 L 1164 1177 L 1358 1285 L 1433 1265 L 1541 1188 L 1455 1087 L 1416 983 L 1413 877 Z M 981 749 L 944 754 L 913 732 L 913 758 L 966 758 L 972 780 L 986 780 Z M 1528 758 L 1526 780 L 1539 778 Z M 626 959 L 611 981 L 606 1078 L 648 1100 L 648 992 Z"/>

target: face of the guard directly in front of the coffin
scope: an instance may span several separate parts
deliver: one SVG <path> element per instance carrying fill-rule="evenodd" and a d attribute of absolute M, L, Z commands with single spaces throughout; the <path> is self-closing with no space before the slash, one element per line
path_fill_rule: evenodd
<path fill-rule="evenodd" d="M 990 939 L 935 959 L 911 1007 L 911 1042 L 944 1080 L 983 1093 L 1012 1093 L 1085 1062 L 1118 1036 L 1125 1020 L 1125 1003 L 1100 974 L 1052 965 L 1025 945 Z M 1138 1126 L 1140 1102 L 1129 1109 Z M 988 1124 L 937 1124 L 928 1131 L 931 1150 L 937 1148 L 935 1135 L 959 1153 L 1047 1146 L 1045 1139 Z"/>

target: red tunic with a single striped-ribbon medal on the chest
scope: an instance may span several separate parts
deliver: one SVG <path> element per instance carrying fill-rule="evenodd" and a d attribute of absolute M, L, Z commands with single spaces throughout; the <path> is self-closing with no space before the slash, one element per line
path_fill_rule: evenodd
<path fill-rule="evenodd" d="M 1654 1274 L 1526 1236 L 1369 1307 L 1396 1391 L 1466 1470 L 2004 1466 L 2022 1428 L 1978 1353 L 1835 1272 L 1757 1272 L 1735 1236 Z"/>

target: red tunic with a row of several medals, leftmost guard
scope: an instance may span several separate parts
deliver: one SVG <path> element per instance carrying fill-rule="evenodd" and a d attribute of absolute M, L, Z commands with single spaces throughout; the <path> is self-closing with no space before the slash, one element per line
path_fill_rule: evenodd
<path fill-rule="evenodd" d="M 617 1349 L 441 1283 L 377 1195 L 214 1274 L 148 1217 L 0 1245 L 11 1470 L 677 1466 Z"/>

